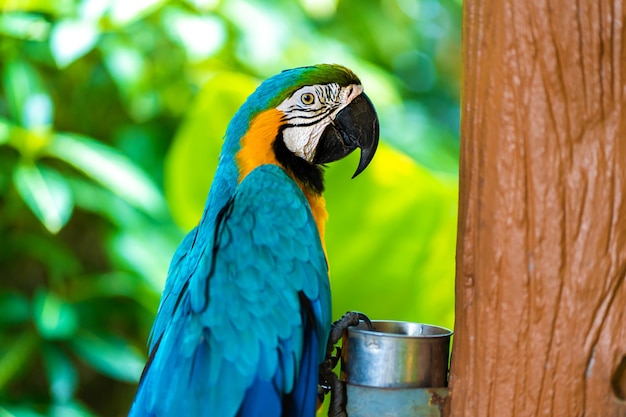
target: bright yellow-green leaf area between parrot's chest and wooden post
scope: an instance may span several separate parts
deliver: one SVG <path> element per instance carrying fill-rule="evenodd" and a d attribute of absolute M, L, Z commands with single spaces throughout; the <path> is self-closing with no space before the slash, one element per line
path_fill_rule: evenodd
<path fill-rule="evenodd" d="M 453 325 L 456 177 L 380 144 L 359 177 L 355 152 L 330 164 L 326 242 L 333 311 Z"/>

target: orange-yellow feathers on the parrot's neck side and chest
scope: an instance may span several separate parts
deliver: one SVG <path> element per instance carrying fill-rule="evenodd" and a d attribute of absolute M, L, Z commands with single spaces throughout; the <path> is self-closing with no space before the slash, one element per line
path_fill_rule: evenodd
<path fill-rule="evenodd" d="M 237 152 L 235 159 L 239 166 L 239 182 L 241 182 L 253 169 L 263 164 L 274 164 L 285 169 L 277 160 L 272 143 L 278 135 L 278 129 L 282 123 L 282 112 L 271 109 L 258 114 L 250 123 L 248 132 L 241 138 L 241 150 Z M 326 252 L 324 242 L 324 230 L 328 212 L 326 202 L 321 194 L 311 192 L 300 181 L 294 178 L 289 170 L 285 169 L 291 178 L 298 184 L 306 199 L 309 201 L 317 230 L 320 234 L 322 247 Z"/>

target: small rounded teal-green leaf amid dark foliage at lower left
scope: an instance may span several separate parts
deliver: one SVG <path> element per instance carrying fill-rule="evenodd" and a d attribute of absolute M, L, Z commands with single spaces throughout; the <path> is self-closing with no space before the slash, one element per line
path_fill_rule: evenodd
<path fill-rule="evenodd" d="M 35 293 L 33 318 L 39 334 L 45 339 L 68 339 L 78 329 L 74 306 L 51 292 Z"/>

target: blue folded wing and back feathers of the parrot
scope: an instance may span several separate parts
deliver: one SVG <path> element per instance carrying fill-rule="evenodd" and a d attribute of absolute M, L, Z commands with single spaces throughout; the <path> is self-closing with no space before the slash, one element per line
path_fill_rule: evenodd
<path fill-rule="evenodd" d="M 330 289 L 306 198 L 264 165 L 219 213 L 174 256 L 130 415 L 314 416 Z"/>

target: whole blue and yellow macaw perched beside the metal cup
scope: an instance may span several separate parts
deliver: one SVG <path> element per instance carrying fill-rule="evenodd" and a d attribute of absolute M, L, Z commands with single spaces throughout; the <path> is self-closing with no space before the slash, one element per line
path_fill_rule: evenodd
<path fill-rule="evenodd" d="M 130 416 L 313 416 L 331 300 L 323 165 L 378 144 L 359 79 L 283 71 L 235 114 L 204 214 L 182 241 Z"/>

